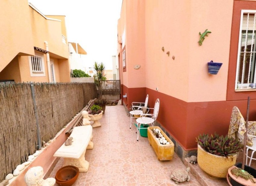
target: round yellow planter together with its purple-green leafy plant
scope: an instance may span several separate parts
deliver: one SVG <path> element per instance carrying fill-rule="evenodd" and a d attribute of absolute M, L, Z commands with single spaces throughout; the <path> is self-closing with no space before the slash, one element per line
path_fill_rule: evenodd
<path fill-rule="evenodd" d="M 199 135 L 196 141 L 199 167 L 211 176 L 226 178 L 229 167 L 235 165 L 237 154 L 242 151 L 242 143 L 238 139 L 216 133 L 214 136 Z"/>

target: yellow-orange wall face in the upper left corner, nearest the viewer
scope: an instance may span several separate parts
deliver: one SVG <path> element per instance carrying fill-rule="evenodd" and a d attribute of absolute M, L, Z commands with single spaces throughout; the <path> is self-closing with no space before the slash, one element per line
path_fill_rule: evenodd
<path fill-rule="evenodd" d="M 27 0 L 0 1 L 0 72 L 18 54 L 34 55 Z"/>

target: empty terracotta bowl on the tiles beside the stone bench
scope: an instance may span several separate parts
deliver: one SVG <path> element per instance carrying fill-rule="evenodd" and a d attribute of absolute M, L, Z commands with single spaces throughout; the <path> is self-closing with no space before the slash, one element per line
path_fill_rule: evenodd
<path fill-rule="evenodd" d="M 75 166 L 68 165 L 60 168 L 55 176 L 56 183 L 61 186 L 72 185 L 79 175 L 79 169 Z"/>

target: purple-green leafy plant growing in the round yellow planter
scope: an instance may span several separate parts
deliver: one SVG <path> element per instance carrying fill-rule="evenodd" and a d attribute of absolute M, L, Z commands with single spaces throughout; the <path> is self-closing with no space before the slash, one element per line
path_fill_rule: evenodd
<path fill-rule="evenodd" d="M 238 140 L 232 137 L 223 137 L 218 134 L 208 134 L 199 135 L 196 138 L 196 142 L 206 151 L 214 155 L 219 156 L 232 156 L 237 152 L 242 151 L 243 144 Z"/>

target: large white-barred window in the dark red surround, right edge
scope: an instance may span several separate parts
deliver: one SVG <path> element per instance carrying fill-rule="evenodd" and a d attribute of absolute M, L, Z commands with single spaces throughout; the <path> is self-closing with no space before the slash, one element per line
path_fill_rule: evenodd
<path fill-rule="evenodd" d="M 242 10 L 236 65 L 235 90 L 256 90 L 256 10 Z"/>

